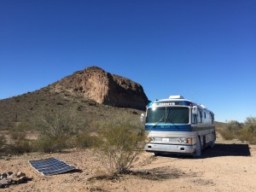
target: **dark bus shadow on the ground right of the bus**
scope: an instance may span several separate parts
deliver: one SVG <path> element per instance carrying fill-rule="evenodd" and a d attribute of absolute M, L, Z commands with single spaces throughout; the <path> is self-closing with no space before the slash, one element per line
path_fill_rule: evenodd
<path fill-rule="evenodd" d="M 201 158 L 221 156 L 251 156 L 251 152 L 248 144 L 216 143 L 214 148 L 205 148 L 201 154 Z"/>

